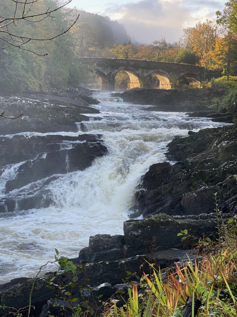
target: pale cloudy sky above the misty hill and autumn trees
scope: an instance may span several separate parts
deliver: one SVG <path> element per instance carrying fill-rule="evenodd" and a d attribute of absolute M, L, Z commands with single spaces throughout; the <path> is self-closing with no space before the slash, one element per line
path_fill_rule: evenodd
<path fill-rule="evenodd" d="M 173 43 L 197 21 L 216 20 L 226 0 L 72 0 L 70 6 L 109 16 L 125 26 L 132 38 L 148 44 L 165 37 Z"/>

